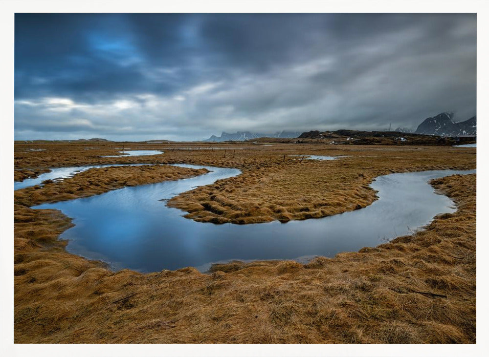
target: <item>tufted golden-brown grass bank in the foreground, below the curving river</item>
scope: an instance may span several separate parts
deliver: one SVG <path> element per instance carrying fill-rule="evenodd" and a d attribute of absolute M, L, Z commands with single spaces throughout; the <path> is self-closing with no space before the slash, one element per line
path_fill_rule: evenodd
<path fill-rule="evenodd" d="M 474 343 L 475 181 L 436 180 L 459 210 L 414 236 L 212 274 L 112 273 L 64 251 L 61 212 L 17 206 L 15 342 Z"/>

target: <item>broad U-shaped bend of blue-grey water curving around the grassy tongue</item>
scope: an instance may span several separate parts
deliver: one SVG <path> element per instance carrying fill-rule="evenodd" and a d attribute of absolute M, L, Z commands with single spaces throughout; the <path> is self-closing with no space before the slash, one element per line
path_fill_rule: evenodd
<path fill-rule="evenodd" d="M 202 168 L 194 165 L 176 165 Z M 319 219 L 278 221 L 250 225 L 199 223 L 165 202 L 180 192 L 237 176 L 232 168 L 205 167 L 212 172 L 198 177 L 126 187 L 101 195 L 43 204 L 36 209 L 59 209 L 73 218 L 65 231 L 67 251 L 108 262 L 111 268 L 140 272 L 198 267 L 230 260 L 333 257 L 375 247 L 396 236 L 411 234 L 435 215 L 454 212 L 453 202 L 435 194 L 431 178 L 471 171 L 439 170 L 380 176 L 371 187 L 379 199 L 372 205 Z"/>

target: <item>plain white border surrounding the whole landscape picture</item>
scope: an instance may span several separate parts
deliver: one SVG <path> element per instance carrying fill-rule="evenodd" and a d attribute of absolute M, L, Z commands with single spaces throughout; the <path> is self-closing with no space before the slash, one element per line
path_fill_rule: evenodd
<path fill-rule="evenodd" d="M 115 10 L 115 11 L 114 11 Z M 477 13 L 477 112 L 479 138 L 485 138 L 489 113 L 487 56 L 489 16 L 484 0 L 3 0 L 0 2 L 0 44 L 2 55 L 2 108 L 0 130 L 0 355 L 1 356 L 485 356 L 488 351 L 488 307 L 486 304 L 488 252 L 487 209 L 488 189 L 478 185 L 477 263 L 477 344 L 471 345 L 49 345 L 13 344 L 13 143 L 14 143 L 14 13 L 15 12 L 469 12 Z M 485 158 L 487 145 L 478 143 L 478 182 L 487 182 L 487 168 L 479 165 Z M 482 150 L 482 151 L 481 151 Z M 487 353 L 487 352 L 486 352 Z"/>

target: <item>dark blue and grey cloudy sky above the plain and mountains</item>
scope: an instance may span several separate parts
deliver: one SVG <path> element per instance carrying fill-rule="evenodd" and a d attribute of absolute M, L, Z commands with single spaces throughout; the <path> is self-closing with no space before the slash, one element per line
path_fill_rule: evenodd
<path fill-rule="evenodd" d="M 16 14 L 16 140 L 476 115 L 475 14 Z"/>

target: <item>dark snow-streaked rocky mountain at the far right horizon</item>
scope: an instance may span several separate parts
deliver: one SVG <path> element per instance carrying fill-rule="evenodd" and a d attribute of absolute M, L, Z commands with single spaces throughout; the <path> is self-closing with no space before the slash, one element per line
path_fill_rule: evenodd
<path fill-rule="evenodd" d="M 476 117 L 459 123 L 453 122 L 453 113 L 440 113 L 436 117 L 426 118 L 416 129 L 416 134 L 439 135 L 439 136 L 460 136 L 476 135 Z"/>

